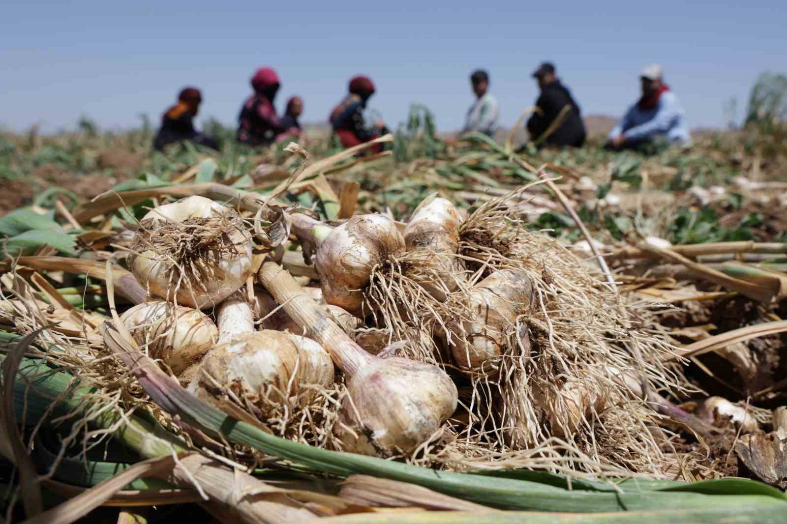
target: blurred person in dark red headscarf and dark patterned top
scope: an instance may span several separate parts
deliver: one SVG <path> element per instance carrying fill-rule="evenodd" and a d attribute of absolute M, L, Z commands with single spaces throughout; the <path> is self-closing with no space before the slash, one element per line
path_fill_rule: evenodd
<path fill-rule="evenodd" d="M 367 127 L 364 121 L 364 109 L 372 94 L 375 94 L 375 84 L 371 83 L 371 79 L 368 76 L 356 76 L 349 81 L 347 97 L 331 111 L 331 127 L 342 146 L 357 146 L 388 132 L 382 120 L 371 127 Z M 382 151 L 382 144 L 371 150 L 375 153 Z"/>

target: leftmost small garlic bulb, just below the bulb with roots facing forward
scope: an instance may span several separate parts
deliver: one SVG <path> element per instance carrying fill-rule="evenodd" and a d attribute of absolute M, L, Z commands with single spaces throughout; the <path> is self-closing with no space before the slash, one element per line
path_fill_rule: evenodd
<path fill-rule="evenodd" d="M 216 345 L 219 330 L 216 324 L 197 309 L 176 306 L 167 301 L 135 305 L 120 316 L 150 358 L 164 361 L 177 377 L 197 363 Z"/>

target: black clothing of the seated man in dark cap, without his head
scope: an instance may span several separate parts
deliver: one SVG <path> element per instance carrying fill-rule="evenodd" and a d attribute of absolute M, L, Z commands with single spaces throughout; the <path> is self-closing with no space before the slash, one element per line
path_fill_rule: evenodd
<path fill-rule="evenodd" d="M 566 104 L 571 104 L 571 113 L 543 143 L 558 147 L 582 146 L 585 143 L 586 132 L 579 105 L 574 101 L 574 98 L 571 98 L 571 93 L 566 87 L 563 87 L 560 80 L 555 80 L 541 89 L 541 95 L 536 101 L 541 113 L 534 113 L 533 116 L 530 116 L 530 120 L 527 120 L 530 139 L 535 140 L 543 135 L 549 124 L 552 124 Z"/>

